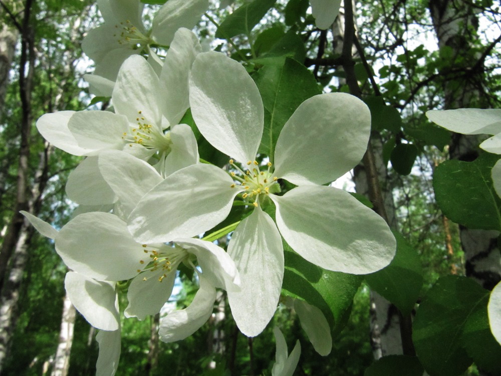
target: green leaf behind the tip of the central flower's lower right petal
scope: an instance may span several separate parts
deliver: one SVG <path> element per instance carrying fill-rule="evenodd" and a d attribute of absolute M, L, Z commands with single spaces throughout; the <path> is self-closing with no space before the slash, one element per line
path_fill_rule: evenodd
<path fill-rule="evenodd" d="M 390 265 L 375 273 L 367 274 L 365 279 L 371 289 L 384 296 L 402 312 L 411 313 L 423 285 L 423 271 L 417 252 L 397 233 L 397 253 Z"/>

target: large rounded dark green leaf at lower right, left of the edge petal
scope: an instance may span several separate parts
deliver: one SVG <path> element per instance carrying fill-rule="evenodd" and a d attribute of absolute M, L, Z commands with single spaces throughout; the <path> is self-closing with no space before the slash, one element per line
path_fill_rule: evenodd
<path fill-rule="evenodd" d="M 463 329 L 488 291 L 467 277 L 440 278 L 423 298 L 413 322 L 416 353 L 430 376 L 456 376 L 471 364 Z"/>

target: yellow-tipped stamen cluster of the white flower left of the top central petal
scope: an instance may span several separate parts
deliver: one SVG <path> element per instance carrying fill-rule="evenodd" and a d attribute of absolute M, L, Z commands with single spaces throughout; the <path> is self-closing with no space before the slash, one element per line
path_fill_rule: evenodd
<path fill-rule="evenodd" d="M 123 132 L 123 140 L 138 143 L 147 149 L 157 149 L 166 153 L 170 152 L 170 145 L 172 144 L 170 133 L 163 134 L 158 127 L 148 123 L 142 111 L 137 111 L 136 121 L 137 126 L 131 127 L 130 132 Z"/>

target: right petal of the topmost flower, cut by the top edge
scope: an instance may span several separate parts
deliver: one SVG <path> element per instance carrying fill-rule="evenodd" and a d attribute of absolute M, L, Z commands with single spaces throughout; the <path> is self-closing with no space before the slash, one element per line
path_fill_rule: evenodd
<path fill-rule="evenodd" d="M 208 0 L 169 0 L 155 15 L 151 36 L 169 45 L 177 29 L 192 29 L 208 8 Z"/>

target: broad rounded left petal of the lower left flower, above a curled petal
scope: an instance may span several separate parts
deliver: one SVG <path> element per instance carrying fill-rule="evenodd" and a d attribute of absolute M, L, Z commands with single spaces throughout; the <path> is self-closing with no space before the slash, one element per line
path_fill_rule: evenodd
<path fill-rule="evenodd" d="M 78 273 L 104 281 L 137 275 L 144 256 L 125 222 L 109 213 L 84 213 L 68 222 L 56 238 L 56 251 Z"/>

